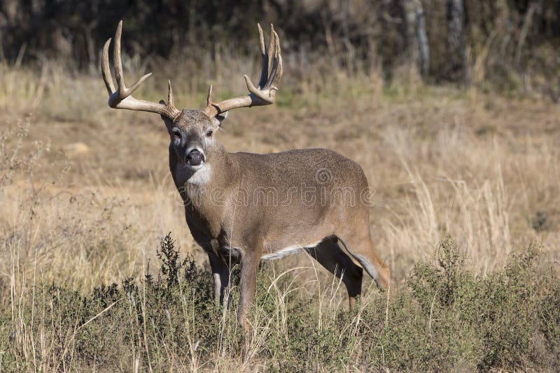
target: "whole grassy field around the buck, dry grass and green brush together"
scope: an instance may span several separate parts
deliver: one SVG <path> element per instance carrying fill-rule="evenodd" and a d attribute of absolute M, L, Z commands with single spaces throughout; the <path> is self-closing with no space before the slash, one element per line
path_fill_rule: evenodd
<path fill-rule="evenodd" d="M 169 76 L 188 107 L 211 82 L 244 92 L 255 64 L 224 60 L 159 71 L 136 96 L 165 97 Z M 559 105 L 286 66 L 278 105 L 237 110 L 218 136 L 358 161 L 391 297 L 367 280 L 348 312 L 311 258 L 267 263 L 244 339 L 235 302 L 210 300 L 159 117 L 110 110 L 98 75 L 1 64 L 0 371 L 559 369 Z"/>

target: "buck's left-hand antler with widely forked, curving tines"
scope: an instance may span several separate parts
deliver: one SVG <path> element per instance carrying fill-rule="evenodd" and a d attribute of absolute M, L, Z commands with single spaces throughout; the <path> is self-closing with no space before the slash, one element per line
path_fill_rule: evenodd
<path fill-rule="evenodd" d="M 107 87 L 107 92 L 109 92 L 109 106 L 113 109 L 128 109 L 128 110 L 141 110 L 147 112 L 155 112 L 160 115 L 165 115 L 169 119 L 175 119 L 177 115 L 181 113 L 181 110 L 175 108 L 173 101 L 173 91 L 171 88 L 171 81 L 169 81 L 169 92 L 167 104 L 160 101 L 160 103 L 155 103 L 151 101 L 139 100 L 132 97 L 132 93 L 137 90 L 138 87 L 152 75 L 148 73 L 141 77 L 132 86 L 127 87 L 125 85 L 125 78 L 123 75 L 123 63 L 120 61 L 120 35 L 123 33 L 123 21 L 118 22 L 117 31 L 115 33 L 115 43 L 113 44 L 113 66 L 115 68 L 115 75 L 117 78 L 118 89 L 115 90 L 115 85 L 113 85 L 113 77 L 111 76 L 111 68 L 109 67 L 109 45 L 111 44 L 111 38 L 106 41 L 103 47 L 102 54 L 102 65 L 101 71 L 103 74 L 103 80 L 105 81 L 105 86 Z"/>

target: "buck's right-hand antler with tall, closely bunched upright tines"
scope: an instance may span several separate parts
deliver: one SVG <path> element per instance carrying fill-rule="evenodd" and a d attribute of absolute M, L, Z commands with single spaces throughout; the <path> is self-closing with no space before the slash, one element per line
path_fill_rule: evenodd
<path fill-rule="evenodd" d="M 249 79 L 247 75 L 243 75 L 250 93 L 247 96 L 228 98 L 218 103 L 212 102 L 212 86 L 210 86 L 207 98 L 208 106 L 204 109 L 204 112 L 206 112 L 209 117 L 215 117 L 218 114 L 232 109 L 270 105 L 274 103 L 274 97 L 278 90 L 276 85 L 279 84 L 282 78 L 280 41 L 272 24 L 270 25 L 268 50 L 265 49 L 265 37 L 262 36 L 260 24 L 258 24 L 258 34 L 260 37 L 260 53 L 262 54 L 262 70 L 260 72 L 258 86 L 255 87 L 251 79 Z"/>

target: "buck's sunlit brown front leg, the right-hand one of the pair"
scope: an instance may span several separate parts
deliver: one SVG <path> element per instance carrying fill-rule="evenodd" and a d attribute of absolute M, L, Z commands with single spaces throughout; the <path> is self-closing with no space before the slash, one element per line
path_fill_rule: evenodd
<path fill-rule="evenodd" d="M 260 250 L 246 250 L 241 257 L 241 284 L 239 286 L 239 309 L 237 309 L 237 321 L 243 326 L 245 332 L 249 331 L 247 320 L 248 312 L 251 310 L 255 290 L 257 288 L 257 270 L 260 260 Z"/>

